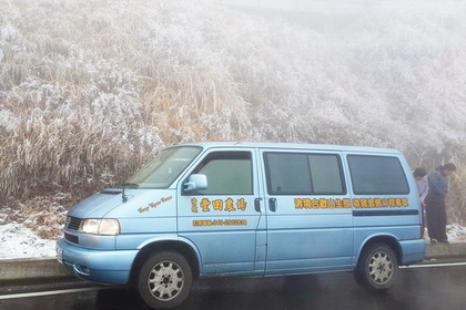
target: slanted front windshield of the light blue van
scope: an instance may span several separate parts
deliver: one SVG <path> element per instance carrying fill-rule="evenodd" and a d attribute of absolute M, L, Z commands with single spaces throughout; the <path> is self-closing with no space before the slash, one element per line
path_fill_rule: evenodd
<path fill-rule="evenodd" d="M 169 188 L 201 153 L 201 147 L 181 146 L 163 149 L 125 184 L 133 188 Z"/>

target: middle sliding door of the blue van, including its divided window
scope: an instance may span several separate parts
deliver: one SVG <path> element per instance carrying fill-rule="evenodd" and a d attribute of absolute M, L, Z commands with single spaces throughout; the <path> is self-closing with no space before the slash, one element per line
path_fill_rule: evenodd
<path fill-rule="evenodd" d="M 338 152 L 262 149 L 265 275 L 350 270 L 353 217 Z"/>

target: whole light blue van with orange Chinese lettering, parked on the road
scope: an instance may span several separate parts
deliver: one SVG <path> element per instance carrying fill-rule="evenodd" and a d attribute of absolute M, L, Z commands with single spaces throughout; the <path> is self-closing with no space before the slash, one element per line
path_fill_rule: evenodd
<path fill-rule="evenodd" d="M 58 260 L 173 308 L 203 277 L 353 271 L 386 290 L 422 261 L 416 185 L 394 149 L 192 143 L 69 210 Z"/>

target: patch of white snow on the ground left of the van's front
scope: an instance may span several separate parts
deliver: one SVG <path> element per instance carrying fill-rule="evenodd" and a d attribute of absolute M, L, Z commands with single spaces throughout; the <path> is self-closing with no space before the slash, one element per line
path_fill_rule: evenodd
<path fill-rule="evenodd" d="M 21 224 L 0 225 L 0 259 L 54 257 L 55 241 L 38 237 Z"/>

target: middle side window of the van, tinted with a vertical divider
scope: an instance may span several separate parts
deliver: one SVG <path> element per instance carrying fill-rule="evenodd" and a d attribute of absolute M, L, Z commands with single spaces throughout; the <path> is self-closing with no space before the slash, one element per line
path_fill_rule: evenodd
<path fill-rule="evenodd" d="M 265 153 L 271 195 L 344 195 L 341 158 L 335 154 Z"/>

